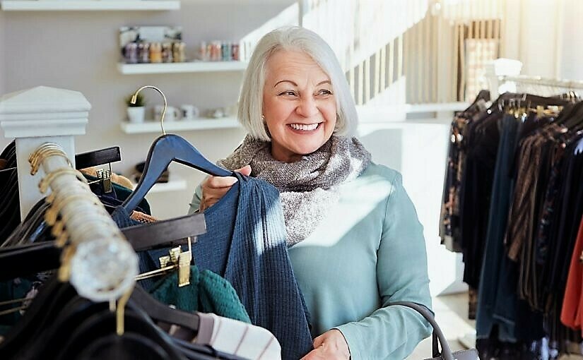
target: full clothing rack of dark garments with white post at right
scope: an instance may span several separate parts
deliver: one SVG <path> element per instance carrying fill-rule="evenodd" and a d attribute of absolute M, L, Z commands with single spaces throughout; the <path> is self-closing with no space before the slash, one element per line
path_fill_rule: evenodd
<path fill-rule="evenodd" d="M 476 298 L 481 304 L 476 314 L 476 326 L 479 337 L 484 339 L 480 347 L 481 351 L 490 349 L 484 354 L 490 352 L 488 356 L 494 356 L 492 349 L 504 347 L 508 347 L 508 351 L 518 350 L 512 349 L 512 339 L 525 342 L 532 351 L 538 351 L 532 347 L 537 341 L 536 346 L 541 349 L 550 347 L 553 351 L 570 352 L 567 345 L 568 341 L 576 339 L 572 336 L 572 329 L 578 326 L 575 311 L 578 311 L 580 295 L 577 293 L 580 273 L 572 272 L 573 268 L 579 269 L 580 250 L 570 253 L 570 249 L 573 243 L 579 244 L 579 249 L 583 244 L 583 236 L 575 234 L 579 226 L 583 227 L 583 224 L 579 225 L 583 208 L 578 205 L 579 200 L 572 200 L 581 195 L 567 192 L 570 188 L 577 188 L 577 176 L 583 164 L 577 151 L 579 144 L 583 144 L 579 132 L 583 121 L 580 112 L 570 110 L 580 109 L 580 103 L 572 104 L 578 100 L 577 92 L 583 89 L 583 81 L 510 74 L 497 74 L 495 81 L 496 85 L 500 84 L 492 88 L 495 92 L 509 92 L 492 97 L 497 106 L 485 110 L 477 106 L 472 108 L 472 104 L 452 121 L 454 145 L 450 144 L 449 148 L 443 212 L 444 229 L 450 228 L 443 232 L 442 239 L 451 236 L 459 241 L 462 238 L 481 241 L 473 245 L 466 241 L 465 248 L 457 250 L 452 246 L 452 251 L 464 253 L 464 260 L 468 261 L 464 261 L 465 270 L 469 269 L 467 276 L 464 272 L 464 281 L 478 290 Z M 559 98 L 558 95 L 564 96 Z M 523 100 L 522 104 L 525 104 L 524 100 L 528 99 L 527 107 L 530 108 L 532 102 L 531 108 L 548 107 L 549 112 L 531 112 L 516 121 L 516 115 L 500 107 L 500 103 L 507 99 L 510 99 L 510 104 L 516 100 L 518 103 Z M 563 107 L 567 107 L 567 111 L 558 115 Z M 555 122 L 558 116 L 564 117 Z M 480 152 L 464 150 L 469 148 Z M 484 155 L 485 152 L 489 155 Z M 488 157 L 488 164 L 494 162 L 495 166 L 483 171 L 485 157 Z M 470 179 L 468 184 L 471 185 L 466 184 L 465 191 L 460 188 L 462 179 Z M 487 180 L 484 182 L 483 179 Z M 529 184 L 524 179 L 535 179 L 537 185 L 524 186 Z M 515 190 L 514 184 L 523 187 L 517 185 L 519 190 Z M 491 189 L 491 192 L 476 195 L 478 188 Z M 466 198 L 460 193 L 465 193 Z M 477 198 L 488 200 L 476 205 Z M 571 200 L 557 203 L 555 198 Z M 459 209 L 464 203 L 469 216 L 462 224 L 464 210 Z M 488 210 L 473 212 L 473 208 Z M 538 212 L 538 209 L 543 210 Z M 532 220 L 529 222 L 526 218 Z M 473 221 L 475 219 L 481 222 Z M 470 230 L 464 234 L 463 227 Z M 583 230 L 580 233 L 583 234 Z M 562 242 L 558 244 L 557 239 Z M 508 243 L 502 245 L 505 241 Z M 550 250 L 552 246 L 556 246 L 553 251 Z M 475 258 L 474 265 L 469 267 L 472 258 Z M 519 263 L 520 268 L 514 268 L 512 261 Z M 485 267 L 486 263 L 488 267 Z M 569 269 L 565 263 L 567 267 L 570 265 Z M 497 271 L 484 271 L 485 268 Z M 568 285 L 565 287 L 567 272 L 569 278 L 573 275 L 575 280 L 572 283 L 576 284 L 570 298 L 565 291 L 565 288 L 569 289 Z M 575 299 L 571 302 L 576 306 L 567 306 L 565 311 L 562 304 L 567 304 L 568 299 Z M 521 310 L 513 311 L 513 306 Z M 538 317 L 541 313 L 545 318 Z M 515 324 L 515 328 L 507 324 Z M 515 332 L 516 328 L 521 328 L 522 332 Z M 553 340 L 552 344 L 540 340 L 543 336 Z M 471 333 L 458 340 L 473 347 L 475 339 L 476 333 Z"/>

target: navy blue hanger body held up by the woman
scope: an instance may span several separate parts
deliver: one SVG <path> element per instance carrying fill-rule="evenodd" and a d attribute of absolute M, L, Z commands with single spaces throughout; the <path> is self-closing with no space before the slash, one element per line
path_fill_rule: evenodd
<path fill-rule="evenodd" d="M 122 205 L 126 211 L 131 212 L 136 208 L 172 161 L 194 167 L 214 176 L 232 175 L 229 170 L 208 161 L 199 150 L 196 150 L 184 138 L 174 134 L 160 136 L 150 147 L 143 174 L 136 189 Z"/>

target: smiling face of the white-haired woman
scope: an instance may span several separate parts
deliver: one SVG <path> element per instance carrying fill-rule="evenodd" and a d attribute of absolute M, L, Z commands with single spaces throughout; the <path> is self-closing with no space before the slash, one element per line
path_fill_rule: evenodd
<path fill-rule="evenodd" d="M 271 134 L 271 155 L 295 162 L 332 136 L 334 90 L 329 76 L 304 52 L 280 50 L 266 65 L 263 116 Z"/>

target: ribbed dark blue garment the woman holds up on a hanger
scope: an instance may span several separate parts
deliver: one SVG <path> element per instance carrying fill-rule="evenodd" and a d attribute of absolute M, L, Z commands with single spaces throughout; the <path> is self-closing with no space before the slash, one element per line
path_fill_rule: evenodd
<path fill-rule="evenodd" d="M 192 244 L 194 263 L 232 284 L 252 323 L 276 336 L 283 359 L 300 359 L 312 349 L 312 337 L 285 244 L 279 193 L 266 181 L 235 176 L 239 181 L 204 212 L 207 232 Z M 122 210 L 114 220 L 131 224 L 120 219 L 127 216 Z M 140 257 L 141 272 L 158 268 L 167 249 L 147 254 Z"/>

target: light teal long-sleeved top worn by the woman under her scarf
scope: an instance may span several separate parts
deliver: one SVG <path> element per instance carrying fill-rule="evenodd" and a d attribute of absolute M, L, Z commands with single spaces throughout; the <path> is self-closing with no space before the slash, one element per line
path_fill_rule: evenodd
<path fill-rule="evenodd" d="M 431 334 L 416 311 L 430 308 L 423 227 L 401 174 L 371 163 L 340 186 L 340 200 L 299 244 L 288 249 L 312 335 L 336 328 L 352 359 L 404 359 Z"/>

